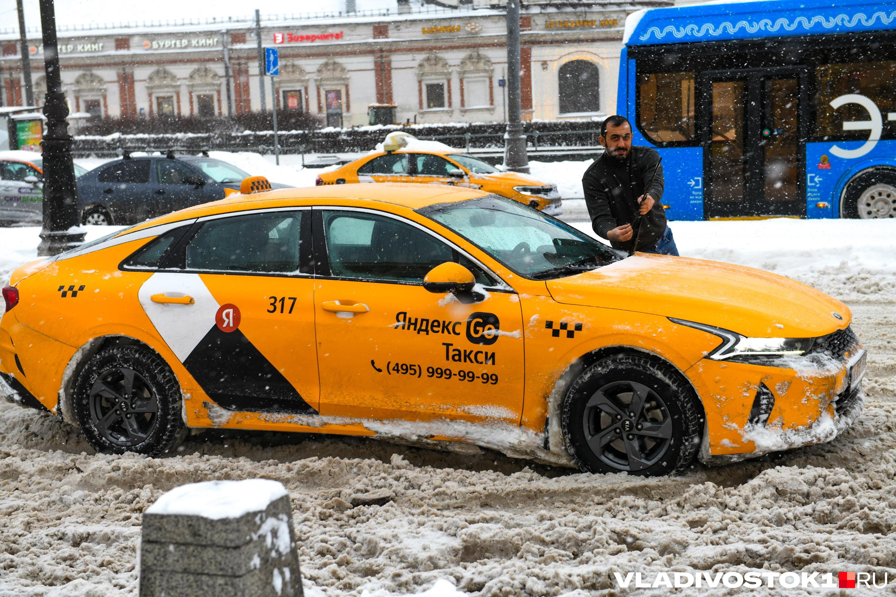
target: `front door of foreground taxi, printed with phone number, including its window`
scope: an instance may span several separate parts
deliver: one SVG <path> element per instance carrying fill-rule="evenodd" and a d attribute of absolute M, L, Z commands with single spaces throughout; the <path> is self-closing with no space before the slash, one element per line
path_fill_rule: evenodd
<path fill-rule="evenodd" d="M 513 290 L 425 227 L 384 212 L 314 209 L 321 414 L 519 422 L 521 307 Z M 488 287 L 478 303 L 423 286 L 445 261 Z"/>

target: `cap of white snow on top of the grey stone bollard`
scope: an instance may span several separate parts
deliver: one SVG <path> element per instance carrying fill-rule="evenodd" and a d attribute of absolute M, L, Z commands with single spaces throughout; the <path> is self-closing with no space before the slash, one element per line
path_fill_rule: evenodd
<path fill-rule="evenodd" d="M 239 518 L 249 512 L 261 512 L 285 495 L 288 494 L 283 483 L 269 479 L 187 483 L 168 491 L 146 508 L 146 512 L 202 516 L 212 520 Z"/>

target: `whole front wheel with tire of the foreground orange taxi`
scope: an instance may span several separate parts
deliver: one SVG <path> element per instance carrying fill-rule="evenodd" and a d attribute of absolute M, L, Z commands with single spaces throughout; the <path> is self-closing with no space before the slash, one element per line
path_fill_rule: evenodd
<path fill-rule="evenodd" d="M 700 448 L 694 388 L 668 363 L 640 354 L 588 367 L 566 392 L 562 415 L 566 448 L 589 473 L 675 473 Z"/>

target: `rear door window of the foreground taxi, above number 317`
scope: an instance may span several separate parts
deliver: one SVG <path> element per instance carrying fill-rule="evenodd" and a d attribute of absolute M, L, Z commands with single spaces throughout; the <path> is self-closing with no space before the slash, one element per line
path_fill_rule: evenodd
<path fill-rule="evenodd" d="M 221 217 L 186 246 L 186 269 L 299 273 L 302 211 Z"/>

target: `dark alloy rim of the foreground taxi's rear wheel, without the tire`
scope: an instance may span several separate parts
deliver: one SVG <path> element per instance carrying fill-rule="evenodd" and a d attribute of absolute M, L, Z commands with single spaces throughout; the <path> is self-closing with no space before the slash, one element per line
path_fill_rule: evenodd
<path fill-rule="evenodd" d="M 103 371 L 90 388 L 90 419 L 103 438 L 123 448 L 136 446 L 151 434 L 159 418 L 159 398 L 136 371 L 114 367 Z"/>

